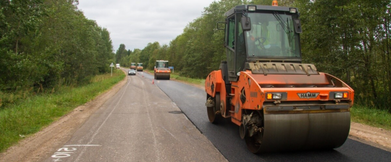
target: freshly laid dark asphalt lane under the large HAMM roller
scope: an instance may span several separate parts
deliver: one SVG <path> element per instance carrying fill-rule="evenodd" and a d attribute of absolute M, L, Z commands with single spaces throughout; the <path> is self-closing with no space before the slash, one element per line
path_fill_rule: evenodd
<path fill-rule="evenodd" d="M 152 80 L 153 76 L 144 73 Z M 391 162 L 391 152 L 348 139 L 344 145 L 326 151 L 299 151 L 254 155 L 239 137 L 239 126 L 229 121 L 220 125 L 209 123 L 205 108 L 205 90 L 175 82 L 155 80 L 193 124 L 230 162 Z M 211 160 L 213 161 L 213 160 Z"/>

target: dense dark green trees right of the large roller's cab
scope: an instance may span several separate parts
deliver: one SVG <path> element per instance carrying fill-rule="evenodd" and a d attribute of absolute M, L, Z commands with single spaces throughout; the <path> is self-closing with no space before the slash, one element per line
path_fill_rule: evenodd
<path fill-rule="evenodd" d="M 390 0 L 296 0 L 304 61 L 343 79 L 358 104 L 390 102 Z M 389 109 L 389 108 L 388 108 Z"/>

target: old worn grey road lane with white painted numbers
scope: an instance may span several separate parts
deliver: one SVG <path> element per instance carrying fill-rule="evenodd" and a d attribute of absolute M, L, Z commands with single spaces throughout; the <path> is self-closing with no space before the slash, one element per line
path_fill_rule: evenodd
<path fill-rule="evenodd" d="M 127 79 L 46 162 L 226 161 L 149 79 Z"/>

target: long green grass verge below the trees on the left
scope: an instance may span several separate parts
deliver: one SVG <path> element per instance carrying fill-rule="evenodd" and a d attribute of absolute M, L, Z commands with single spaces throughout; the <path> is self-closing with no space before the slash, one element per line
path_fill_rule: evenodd
<path fill-rule="evenodd" d="M 124 72 L 115 70 L 112 77 L 110 73 L 97 75 L 85 86 L 62 87 L 55 93 L 27 97 L 0 109 L 0 152 L 18 143 L 22 139 L 20 135 L 38 132 L 74 108 L 109 90 L 125 76 Z"/>

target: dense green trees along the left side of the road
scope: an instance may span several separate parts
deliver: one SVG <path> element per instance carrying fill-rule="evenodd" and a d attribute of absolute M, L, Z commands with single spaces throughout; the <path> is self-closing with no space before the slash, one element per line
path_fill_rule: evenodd
<path fill-rule="evenodd" d="M 86 83 L 114 62 L 109 31 L 78 0 L 0 1 L 0 92 Z"/>

